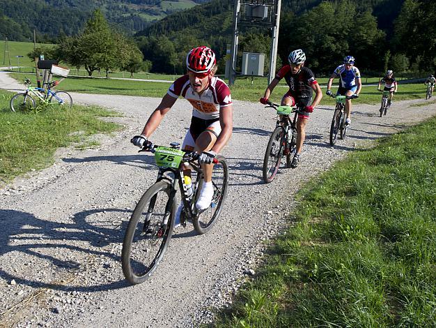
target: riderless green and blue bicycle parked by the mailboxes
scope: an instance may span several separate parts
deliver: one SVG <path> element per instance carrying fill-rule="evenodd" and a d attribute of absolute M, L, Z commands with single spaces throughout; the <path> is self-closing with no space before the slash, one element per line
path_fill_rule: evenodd
<path fill-rule="evenodd" d="M 27 112 L 36 108 L 36 102 L 33 97 L 38 98 L 41 103 L 48 105 L 61 105 L 65 108 L 72 107 L 72 98 L 68 92 L 52 91 L 52 87 L 57 85 L 57 81 L 49 82 L 47 89 L 31 87 L 29 79 L 24 80 L 27 89 L 22 94 L 15 94 L 10 99 L 10 110 L 13 112 Z"/>

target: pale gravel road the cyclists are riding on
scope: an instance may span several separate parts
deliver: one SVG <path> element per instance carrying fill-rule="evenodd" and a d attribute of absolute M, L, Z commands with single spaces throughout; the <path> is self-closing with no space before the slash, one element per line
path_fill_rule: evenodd
<path fill-rule="evenodd" d="M 0 73 L 3 87 L 19 88 Z M 75 103 L 123 113 L 111 118 L 123 131 L 95 137 L 101 146 L 59 149 L 56 163 L 0 189 L 0 327 L 195 327 L 210 322 L 211 308 L 227 306 L 244 279 L 256 272 L 264 241 L 289 224 L 295 193 L 349 151 L 371 146 L 436 114 L 426 100 L 395 102 L 387 117 L 355 100 L 347 140 L 329 147 L 332 107 L 321 105 L 306 128 L 297 169 L 282 167 L 263 184 L 262 163 L 274 128 L 272 110 L 235 101 L 234 130 L 222 154 L 230 188 L 217 225 L 204 235 L 192 225 L 175 231 L 155 274 L 131 286 L 120 267 L 130 214 L 153 184 L 156 167 L 130 137 L 158 98 L 72 94 Z M 182 142 L 191 110 L 178 100 L 152 137 Z M 286 195 L 286 197 L 283 197 Z"/>

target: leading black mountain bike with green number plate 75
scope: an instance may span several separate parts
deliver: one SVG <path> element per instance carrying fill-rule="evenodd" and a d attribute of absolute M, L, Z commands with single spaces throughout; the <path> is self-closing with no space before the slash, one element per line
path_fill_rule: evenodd
<path fill-rule="evenodd" d="M 204 177 L 198 154 L 180 150 L 178 142 L 171 147 L 148 143 L 141 151 L 151 151 L 159 167 L 155 184 L 143 194 L 130 218 L 121 252 L 123 274 L 132 284 L 146 281 L 162 260 L 173 234 L 176 216 L 176 193 L 180 189 L 183 209 L 180 222 L 192 221 L 199 234 L 215 225 L 226 199 L 228 165 L 226 158 L 216 156 L 212 171 L 214 195 L 208 209 L 198 211 L 195 206 Z M 192 169 L 193 193 L 188 196 L 183 167 Z M 194 177 L 195 176 L 195 177 Z"/>

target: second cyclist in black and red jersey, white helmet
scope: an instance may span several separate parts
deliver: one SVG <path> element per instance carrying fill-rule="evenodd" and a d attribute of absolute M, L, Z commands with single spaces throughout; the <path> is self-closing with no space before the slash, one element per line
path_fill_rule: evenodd
<path fill-rule="evenodd" d="M 299 154 L 302 151 L 304 139 L 306 138 L 305 128 L 309 121 L 309 115 L 313 112 L 313 108 L 316 107 L 322 98 L 322 91 L 315 79 L 310 68 L 304 67 L 304 61 L 306 61 L 306 54 L 303 50 L 297 49 L 290 52 L 288 57 L 289 64 L 281 67 L 279 72 L 277 72 L 276 77 L 268 85 L 265 90 L 263 98 L 260 98 L 260 103 L 266 105 L 268 98 L 272 90 L 279 84 L 283 77 L 289 86 L 288 92 L 284 94 L 281 98 L 281 105 L 294 106 L 297 104 L 299 108 L 302 108 L 304 112 L 298 114 L 297 119 L 297 151 L 293 161 L 291 162 L 291 167 L 297 167 L 299 162 Z M 313 91 L 315 91 L 316 96 L 312 102 Z M 286 149 L 289 151 L 288 149 Z M 287 154 L 285 154 L 287 155 Z"/>

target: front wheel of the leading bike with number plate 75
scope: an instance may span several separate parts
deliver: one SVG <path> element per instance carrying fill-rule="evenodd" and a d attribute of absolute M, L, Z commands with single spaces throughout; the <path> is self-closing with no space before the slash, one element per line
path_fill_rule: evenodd
<path fill-rule="evenodd" d="M 171 184 L 159 181 L 139 200 L 125 232 L 123 274 L 132 284 L 146 281 L 162 260 L 173 234 L 176 200 Z"/>

